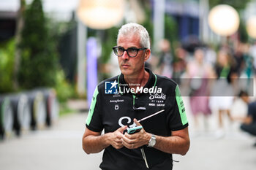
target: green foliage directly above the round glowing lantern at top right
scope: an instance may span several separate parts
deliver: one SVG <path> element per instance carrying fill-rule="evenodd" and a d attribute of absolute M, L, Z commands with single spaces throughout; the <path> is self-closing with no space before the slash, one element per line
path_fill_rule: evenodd
<path fill-rule="evenodd" d="M 210 4 L 211 8 L 215 7 L 218 4 L 228 4 L 228 5 L 230 5 L 231 7 L 234 7 L 237 10 L 241 10 L 241 9 L 244 9 L 246 7 L 246 4 L 249 1 L 251 1 L 251 0 L 244 0 L 244 1 L 241 1 L 241 0 L 210 0 L 209 4 Z"/>

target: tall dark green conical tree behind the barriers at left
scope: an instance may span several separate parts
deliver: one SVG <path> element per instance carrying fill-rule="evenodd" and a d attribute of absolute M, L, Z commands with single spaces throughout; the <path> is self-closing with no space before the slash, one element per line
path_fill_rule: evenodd
<path fill-rule="evenodd" d="M 42 10 L 42 1 L 34 0 L 24 14 L 24 28 L 19 84 L 22 88 L 36 88 L 56 84 L 58 53 L 56 42 L 49 34 Z"/>

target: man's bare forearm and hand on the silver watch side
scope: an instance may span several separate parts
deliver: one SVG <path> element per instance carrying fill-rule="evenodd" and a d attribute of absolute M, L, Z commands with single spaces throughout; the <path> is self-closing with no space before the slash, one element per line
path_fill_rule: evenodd
<path fill-rule="evenodd" d="M 137 120 L 135 123 L 140 125 Z M 147 145 L 150 139 L 151 134 L 142 129 L 136 134 L 124 134 L 122 141 L 125 147 L 135 149 Z M 190 145 L 188 127 L 179 131 L 172 131 L 172 136 L 156 136 L 156 141 L 154 148 L 157 150 L 170 154 L 186 155 Z"/>

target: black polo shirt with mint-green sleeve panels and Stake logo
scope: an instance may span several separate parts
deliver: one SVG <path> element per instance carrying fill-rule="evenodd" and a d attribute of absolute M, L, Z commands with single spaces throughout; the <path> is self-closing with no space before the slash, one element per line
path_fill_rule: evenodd
<path fill-rule="evenodd" d="M 104 80 L 97 85 L 91 101 L 86 127 L 91 131 L 105 133 L 116 131 L 122 125 L 132 127 L 133 119 L 142 119 L 162 109 L 164 112 L 140 122 L 145 131 L 159 136 L 171 136 L 188 126 L 184 103 L 178 85 L 167 77 L 149 73 L 144 88 L 130 89 L 124 75 Z M 137 92 L 137 93 L 136 93 Z M 151 147 L 142 147 L 150 169 L 172 169 L 172 155 Z M 141 148 L 129 150 L 122 147 L 116 150 L 105 148 L 101 169 L 148 169 Z"/>

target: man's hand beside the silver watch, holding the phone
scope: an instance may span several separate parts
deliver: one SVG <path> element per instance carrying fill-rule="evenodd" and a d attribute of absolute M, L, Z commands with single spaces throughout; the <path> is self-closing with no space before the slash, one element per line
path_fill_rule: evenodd
<path fill-rule="evenodd" d="M 140 125 L 136 119 L 133 120 L 136 125 Z M 141 147 L 145 144 L 148 144 L 149 139 L 151 138 L 151 134 L 148 134 L 143 128 L 135 134 L 127 134 L 125 133 L 121 139 L 124 147 L 128 149 L 135 149 Z"/>

